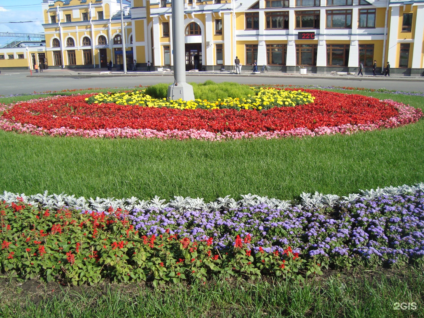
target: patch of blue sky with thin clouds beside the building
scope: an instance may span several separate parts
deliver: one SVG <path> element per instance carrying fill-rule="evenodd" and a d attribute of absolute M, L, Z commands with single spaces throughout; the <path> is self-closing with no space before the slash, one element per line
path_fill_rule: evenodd
<path fill-rule="evenodd" d="M 42 0 L 0 0 L 0 32 L 44 32 L 41 3 Z M 13 40 L 14 38 L 0 36 L 0 45 Z"/>

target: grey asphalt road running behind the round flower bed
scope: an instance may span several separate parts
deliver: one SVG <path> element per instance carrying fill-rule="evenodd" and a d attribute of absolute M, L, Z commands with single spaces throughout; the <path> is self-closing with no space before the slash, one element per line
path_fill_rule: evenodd
<path fill-rule="evenodd" d="M 153 85 L 158 83 L 173 82 L 172 74 L 158 75 L 140 75 L 140 76 L 118 76 L 95 78 L 81 78 L 76 72 L 69 72 L 68 75 L 75 74 L 75 77 L 45 77 L 45 75 L 59 75 L 63 73 L 54 72 L 56 70 L 47 70 L 43 75 L 27 77 L 28 71 L 2 71 L 0 74 L 0 95 L 29 94 L 32 92 L 58 91 L 62 89 L 85 89 L 89 87 L 114 88 L 131 87 L 138 85 Z M 62 71 L 63 72 L 63 71 Z M 270 74 L 271 75 L 271 74 Z M 365 78 L 365 77 L 364 77 Z M 290 75 L 272 74 L 267 76 L 258 75 L 187 75 L 188 82 L 203 83 L 206 80 L 215 82 L 233 81 L 240 84 L 292 84 L 292 85 L 321 85 L 321 86 L 351 86 L 367 87 L 373 89 L 385 88 L 391 90 L 402 90 L 407 92 L 424 92 L 424 81 L 402 81 L 399 78 L 396 81 L 388 81 L 383 77 L 366 77 L 367 80 L 352 80 L 331 78 L 314 78 L 310 75 L 308 78 L 291 78 Z M 409 77 L 405 79 L 410 79 Z"/>

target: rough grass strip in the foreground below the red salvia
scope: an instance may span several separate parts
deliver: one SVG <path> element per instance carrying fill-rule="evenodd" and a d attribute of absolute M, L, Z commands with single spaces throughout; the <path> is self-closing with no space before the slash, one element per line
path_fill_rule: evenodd
<path fill-rule="evenodd" d="M 206 285 L 171 285 L 151 289 L 145 285 L 68 288 L 9 285 L 0 292 L 1 317 L 423 317 L 422 269 L 333 272 L 305 284 L 283 281 L 230 282 Z M 34 285 L 34 284 L 32 284 Z M 35 283 L 35 286 L 38 285 Z M 22 286 L 22 287 L 21 287 Z M 52 289 L 56 290 L 52 292 Z M 63 289 L 63 292 L 59 292 Z M 31 292 L 30 290 L 29 292 Z M 58 293 L 59 292 L 59 293 Z M 19 293 L 21 295 L 19 295 Z M 416 310 L 395 310 L 395 303 L 416 303 Z M 402 305 L 402 307 L 404 307 Z"/>

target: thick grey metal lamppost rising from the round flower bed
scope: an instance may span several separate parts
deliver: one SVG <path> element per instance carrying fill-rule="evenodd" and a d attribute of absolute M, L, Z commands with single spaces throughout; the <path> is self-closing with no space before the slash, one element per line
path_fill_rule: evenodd
<path fill-rule="evenodd" d="M 172 0 L 172 33 L 175 83 L 168 86 L 168 99 L 194 100 L 185 75 L 184 0 Z"/>

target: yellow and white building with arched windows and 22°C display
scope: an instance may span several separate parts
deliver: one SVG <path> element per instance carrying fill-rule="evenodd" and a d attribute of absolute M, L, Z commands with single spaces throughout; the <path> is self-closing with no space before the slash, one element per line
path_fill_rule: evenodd
<path fill-rule="evenodd" d="M 186 69 L 366 73 L 423 76 L 424 0 L 183 0 Z M 173 68 L 171 0 L 43 0 L 49 67 Z M 0 49 L 1 50 L 1 49 Z M 0 68 L 2 64 L 0 53 Z M 25 56 L 25 55 L 24 55 Z M 2 63 L 3 62 L 3 63 Z"/>

